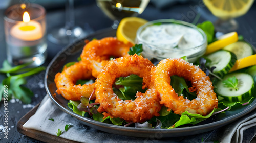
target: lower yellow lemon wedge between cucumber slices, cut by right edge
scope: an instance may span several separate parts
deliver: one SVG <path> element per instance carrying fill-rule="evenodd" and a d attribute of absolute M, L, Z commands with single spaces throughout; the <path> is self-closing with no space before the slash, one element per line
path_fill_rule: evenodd
<path fill-rule="evenodd" d="M 234 66 L 229 70 L 229 72 L 252 65 L 256 65 L 256 54 L 237 60 L 236 63 L 234 63 Z"/>

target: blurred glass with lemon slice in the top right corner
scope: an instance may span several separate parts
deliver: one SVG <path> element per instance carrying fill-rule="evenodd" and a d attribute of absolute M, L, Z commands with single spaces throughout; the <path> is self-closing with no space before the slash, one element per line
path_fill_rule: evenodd
<path fill-rule="evenodd" d="M 238 22 L 234 18 L 246 14 L 254 0 L 203 0 L 203 2 L 209 11 L 218 17 L 218 20 L 215 21 L 215 29 L 219 32 L 228 33 L 238 29 Z"/>

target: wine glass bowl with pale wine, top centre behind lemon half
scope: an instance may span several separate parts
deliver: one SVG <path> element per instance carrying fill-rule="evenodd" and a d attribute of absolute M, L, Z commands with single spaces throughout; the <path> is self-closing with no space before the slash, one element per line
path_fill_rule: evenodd
<path fill-rule="evenodd" d="M 141 14 L 150 0 L 97 0 L 97 6 L 106 16 L 113 20 L 113 29 L 117 29 L 119 21 L 125 17 Z"/>

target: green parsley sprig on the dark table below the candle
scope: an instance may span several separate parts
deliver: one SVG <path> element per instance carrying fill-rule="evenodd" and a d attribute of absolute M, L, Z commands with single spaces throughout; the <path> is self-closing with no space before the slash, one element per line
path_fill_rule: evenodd
<path fill-rule="evenodd" d="M 33 92 L 24 86 L 27 83 L 25 77 L 34 75 L 46 69 L 45 67 L 25 68 L 31 63 L 12 67 L 7 60 L 3 62 L 3 66 L 0 68 L 0 73 L 6 74 L 7 78 L 5 78 L 0 85 L 0 99 L 2 99 L 2 96 L 4 95 L 4 85 L 7 85 L 8 99 L 14 97 L 16 99 L 20 99 L 26 104 L 31 102 Z"/>

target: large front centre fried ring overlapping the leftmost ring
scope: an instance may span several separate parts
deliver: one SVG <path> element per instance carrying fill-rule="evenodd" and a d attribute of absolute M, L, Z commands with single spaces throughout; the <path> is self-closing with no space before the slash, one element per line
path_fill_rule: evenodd
<path fill-rule="evenodd" d="M 151 68 L 154 65 L 137 54 L 121 57 L 110 61 L 96 80 L 96 100 L 100 103 L 99 112 L 107 112 L 113 117 L 120 117 L 127 122 L 144 122 L 153 116 L 159 116 L 162 105 L 151 82 Z M 113 92 L 112 84 L 118 77 L 131 74 L 143 78 L 142 88 L 148 88 L 145 93 L 137 92 L 135 100 L 121 100 Z"/>

